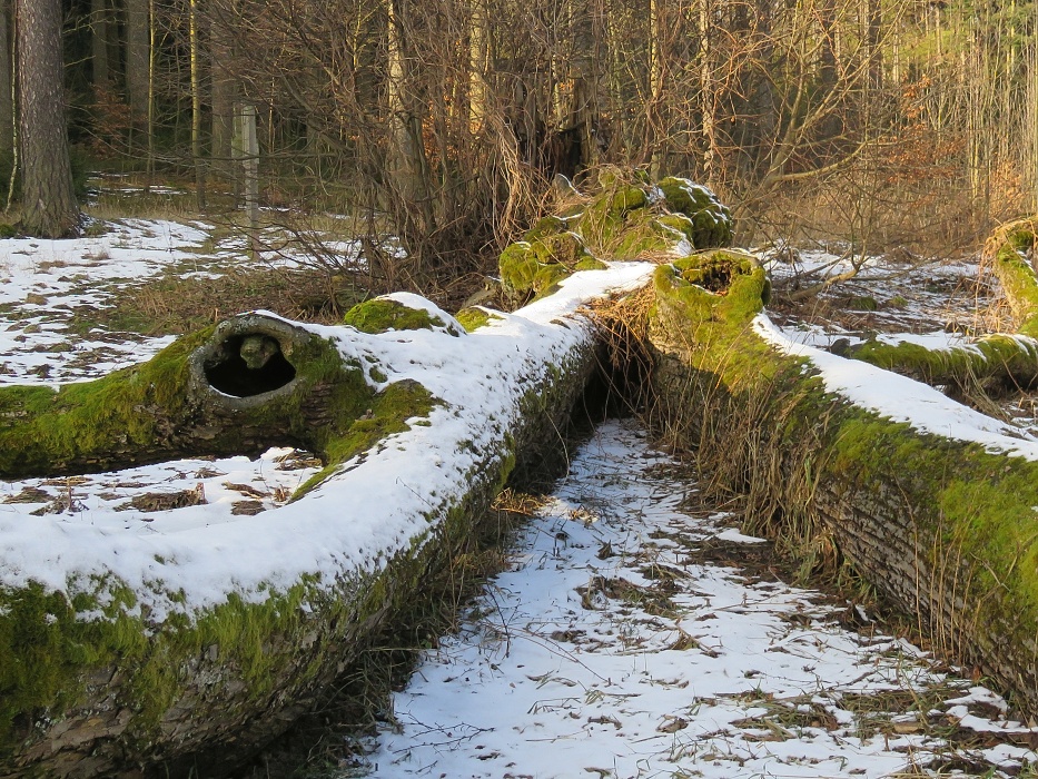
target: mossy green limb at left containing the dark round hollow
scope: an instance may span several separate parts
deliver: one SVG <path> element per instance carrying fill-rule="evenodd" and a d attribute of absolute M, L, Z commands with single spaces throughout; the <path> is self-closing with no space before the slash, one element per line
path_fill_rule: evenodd
<path fill-rule="evenodd" d="M 250 368 L 249 337 L 276 344 Z M 246 356 L 253 358 L 249 353 Z M 327 455 L 375 395 L 325 338 L 246 315 L 93 382 L 0 387 L 0 476 L 112 470 L 289 445 Z"/>

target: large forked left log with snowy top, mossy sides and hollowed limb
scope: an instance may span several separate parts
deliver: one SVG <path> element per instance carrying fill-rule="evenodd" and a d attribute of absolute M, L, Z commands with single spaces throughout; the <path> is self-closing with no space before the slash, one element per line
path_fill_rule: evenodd
<path fill-rule="evenodd" d="M 473 333 L 413 295 L 388 300 L 415 315 L 413 329 L 254 313 L 101 379 L 105 394 L 88 384 L 0 398 L 8 476 L 155 462 L 205 442 L 219 453 L 267 432 L 328 463 L 277 511 L 161 532 L 120 532 L 89 512 L 0 514 L 0 775 L 162 762 L 208 775 L 284 730 L 421 588 L 517 458 L 555 443 L 544 431 L 594 367 L 579 307 L 647 277 L 644 265 L 581 273 Z M 266 383 L 239 383 L 228 361 Z M 189 403 L 164 395 L 160 378 Z M 131 402 L 109 414 L 98 397 Z M 100 431 L 48 432 L 61 420 Z"/>

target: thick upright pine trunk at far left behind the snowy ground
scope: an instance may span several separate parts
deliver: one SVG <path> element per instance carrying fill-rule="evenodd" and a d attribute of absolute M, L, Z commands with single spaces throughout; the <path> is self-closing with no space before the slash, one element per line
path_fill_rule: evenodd
<path fill-rule="evenodd" d="M 60 0 L 17 0 L 22 229 L 42 238 L 75 235 L 79 207 L 65 119 Z"/>

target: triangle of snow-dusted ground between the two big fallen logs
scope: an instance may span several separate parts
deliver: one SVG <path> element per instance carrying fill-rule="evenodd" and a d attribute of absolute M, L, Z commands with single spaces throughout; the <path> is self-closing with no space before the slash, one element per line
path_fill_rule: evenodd
<path fill-rule="evenodd" d="M 738 559 L 693 484 L 602 425 L 520 533 L 511 570 L 423 657 L 343 776 L 1017 776 L 1038 731 L 903 640 Z M 950 737 L 950 738 L 949 738 Z M 923 770 L 929 767 L 928 770 Z"/>

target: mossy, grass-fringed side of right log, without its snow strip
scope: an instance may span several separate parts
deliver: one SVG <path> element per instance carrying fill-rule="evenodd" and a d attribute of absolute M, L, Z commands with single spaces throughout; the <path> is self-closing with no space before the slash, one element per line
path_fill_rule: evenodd
<path fill-rule="evenodd" d="M 723 290 L 689 280 L 700 277 L 696 265 L 713 275 L 723 255 L 656 270 L 651 332 L 662 362 L 654 424 L 694 454 L 709 489 L 741 496 L 747 530 L 800 556 L 804 575 L 836 575 L 841 564 L 838 529 L 829 524 L 841 519 L 826 519 L 822 491 L 878 511 L 877 523 L 883 512 L 910 517 L 917 558 L 909 564 L 918 579 L 902 572 L 903 560 L 890 569 L 872 561 L 859 573 L 900 609 L 920 608 L 918 625 L 932 645 L 996 673 L 1034 711 L 1034 673 L 1005 673 L 991 655 L 990 625 L 999 625 L 1007 652 L 1030 655 L 1038 633 L 1038 463 L 922 434 L 827 393 L 809 362 L 778 353 L 753 331 L 767 292 L 760 268 L 730 262 Z M 877 524 L 872 532 L 886 531 Z M 898 576 L 900 589 L 891 585 Z M 918 603 L 906 602 L 917 585 Z M 951 586 L 960 605 L 949 618 L 928 599 Z"/>

